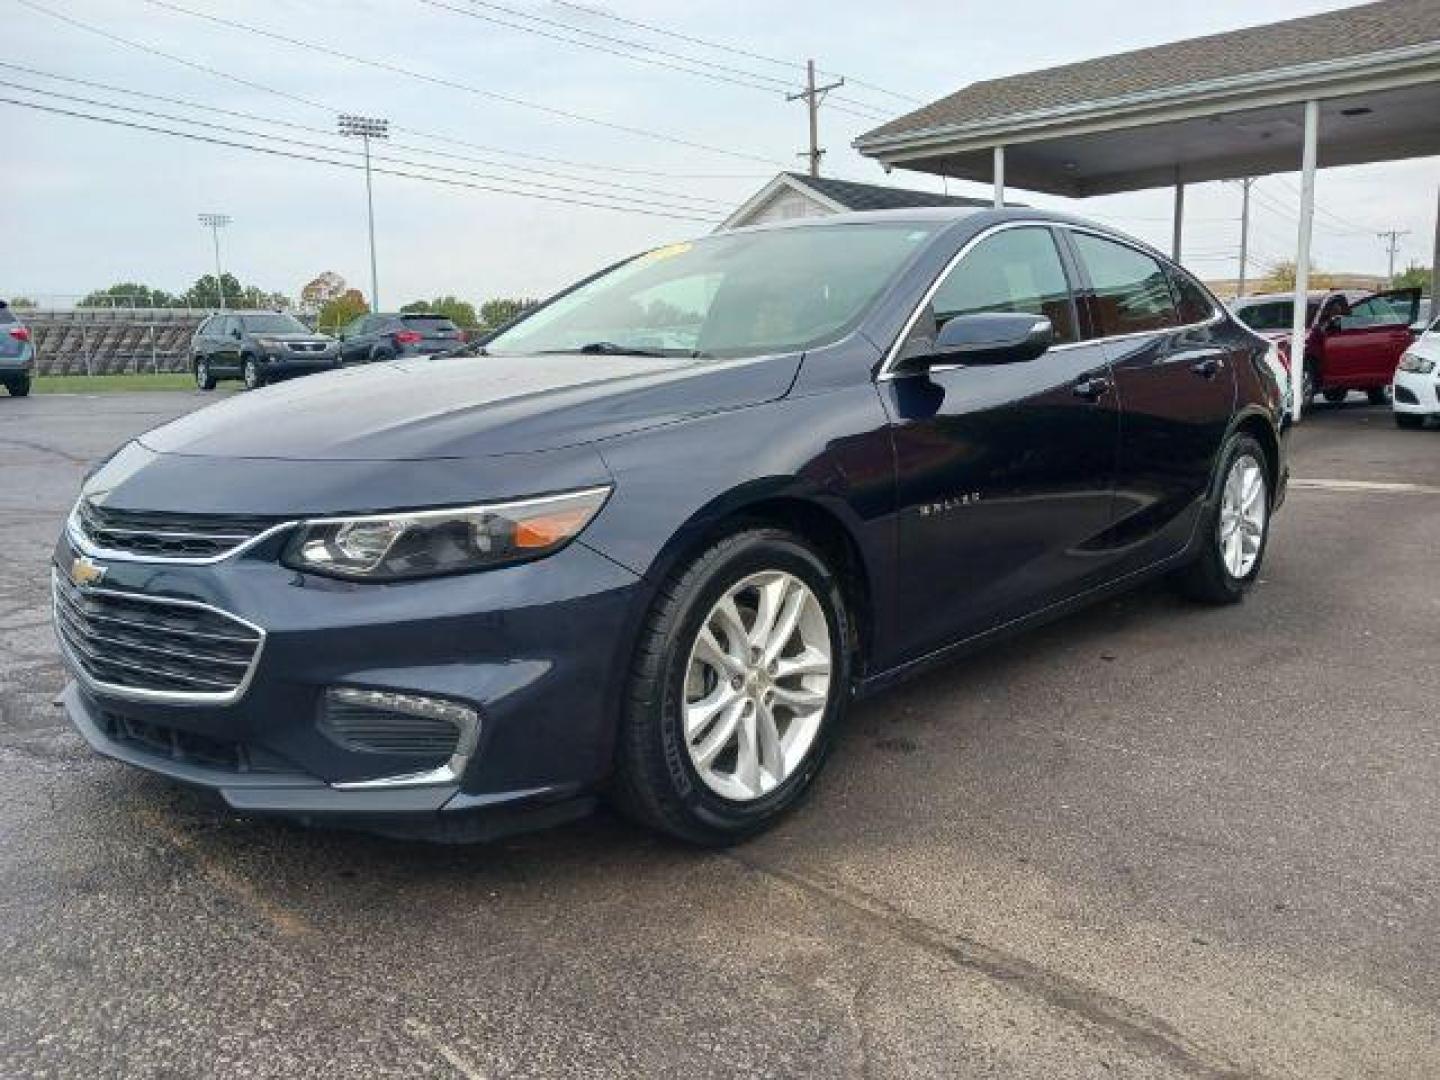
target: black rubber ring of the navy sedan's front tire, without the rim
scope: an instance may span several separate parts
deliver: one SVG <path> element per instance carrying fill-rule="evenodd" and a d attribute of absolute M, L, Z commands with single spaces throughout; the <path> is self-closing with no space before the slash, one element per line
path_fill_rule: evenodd
<path fill-rule="evenodd" d="M 765 570 L 793 573 L 815 593 L 825 611 L 831 635 L 831 697 L 819 732 L 801 768 L 782 785 L 753 802 L 734 802 L 710 791 L 690 760 L 684 739 L 684 684 L 690 648 L 716 600 L 736 582 Z M 724 838 L 739 838 L 765 828 L 814 782 L 829 753 L 850 696 L 850 624 L 838 582 L 809 547 L 776 533 L 744 537 L 683 599 L 667 628 L 661 660 L 661 704 L 652 717 L 660 739 L 671 795 L 687 816 Z"/>

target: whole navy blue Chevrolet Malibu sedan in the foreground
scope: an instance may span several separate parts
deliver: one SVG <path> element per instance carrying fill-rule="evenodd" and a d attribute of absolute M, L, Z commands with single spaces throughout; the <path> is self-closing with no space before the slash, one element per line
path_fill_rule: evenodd
<path fill-rule="evenodd" d="M 1159 575 L 1240 600 L 1287 475 L 1267 348 L 1040 210 L 660 248 L 484 363 L 240 395 L 118 451 L 56 549 L 63 703 L 242 812 L 487 837 L 605 792 L 736 841 L 852 696 Z"/>

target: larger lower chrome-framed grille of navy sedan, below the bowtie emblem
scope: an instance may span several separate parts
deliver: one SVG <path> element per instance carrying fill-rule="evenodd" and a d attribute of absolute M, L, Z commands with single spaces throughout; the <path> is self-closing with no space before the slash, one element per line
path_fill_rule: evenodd
<path fill-rule="evenodd" d="M 226 704 L 249 684 L 265 631 L 193 600 L 81 589 L 50 573 L 55 631 L 81 680 L 145 701 Z"/>

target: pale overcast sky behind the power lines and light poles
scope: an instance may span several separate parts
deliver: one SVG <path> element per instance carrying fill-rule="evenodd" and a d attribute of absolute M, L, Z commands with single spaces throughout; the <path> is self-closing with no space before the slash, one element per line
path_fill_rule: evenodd
<path fill-rule="evenodd" d="M 327 131 L 334 125 L 334 108 L 382 115 L 408 128 L 403 134 L 395 132 L 393 143 L 409 150 L 392 145 L 382 151 L 396 158 L 419 160 L 413 148 L 422 147 L 508 163 L 510 168 L 459 157 L 425 158 L 455 170 L 508 177 L 508 186 L 537 194 L 588 199 L 541 184 L 580 190 L 596 190 L 596 181 L 628 184 L 648 190 L 608 190 L 644 200 L 651 212 L 684 215 L 647 216 L 377 176 L 380 292 L 389 308 L 451 292 L 468 300 L 547 294 L 636 249 L 707 232 L 714 219 L 743 202 L 779 167 L 802 167 L 795 153 L 804 148 L 804 109 L 799 104 L 786 104 L 779 86 L 759 91 L 698 78 L 547 40 L 469 17 L 461 10 L 520 22 L 497 7 L 504 6 L 615 39 L 644 40 L 652 60 L 665 60 L 657 52 L 662 49 L 796 84 L 804 59 L 815 56 L 828 71 L 926 101 L 976 79 L 1345 6 L 1333 0 L 1208 0 L 1204 4 L 1142 0 L 1089 0 L 1084 4 L 1064 0 L 1009 0 L 1004 4 L 600 0 L 600 10 L 615 16 L 769 58 L 793 58 L 795 68 L 789 71 L 762 59 L 655 36 L 552 0 L 494 0 L 490 6 L 438 0 L 456 10 L 442 10 L 425 0 L 251 0 L 245 4 L 174 0 L 194 12 L 321 42 L 399 69 L 382 71 L 266 40 L 148 0 L 27 1 L 253 85 L 118 45 L 35 10 L 24 0 L 0 0 L 0 33 L 6 42 L 0 62 Z M 566 33 L 557 26 L 531 26 Z M 714 69 L 711 73 L 723 75 Z M 710 148 L 569 120 L 415 75 L 465 84 L 609 124 L 664 132 Z M 0 68 L 0 81 L 12 84 L 0 86 L 0 98 L 183 128 L 292 153 L 315 153 L 320 147 L 330 157 L 341 157 L 338 151 L 354 150 L 344 140 L 298 128 L 125 98 L 109 89 L 42 79 L 9 68 Z M 16 89 L 13 84 L 26 89 Z M 300 140 L 301 145 L 122 114 L 65 101 L 56 94 L 285 135 Z M 909 108 L 900 98 L 864 86 L 847 86 L 842 94 L 854 102 L 867 102 L 873 112 L 886 118 Z M 821 128 L 822 144 L 829 148 L 825 171 L 937 190 L 940 181 L 923 174 L 896 171 L 887 179 L 877 164 L 850 148 L 854 137 L 874 125 L 876 121 L 858 115 L 825 109 Z M 210 238 L 196 222 L 200 212 L 223 212 L 233 217 L 222 236 L 225 266 L 245 284 L 295 295 L 305 281 L 333 269 L 366 294 L 370 291 L 364 181 L 357 171 L 9 104 L 0 104 L 0 132 L 4 147 L 0 297 L 30 295 L 53 302 L 65 294 L 84 294 L 122 279 L 179 291 L 212 266 Z M 431 141 L 428 135 L 452 141 Z M 494 150 L 482 151 L 477 145 Z M 520 153 L 575 164 L 504 156 Z M 1316 262 L 1323 269 L 1382 274 L 1385 249 L 1374 233 L 1404 229 L 1410 235 L 1401 239 L 1398 264 L 1427 264 L 1440 183 L 1437 163 L 1437 158 L 1424 158 L 1322 171 L 1318 202 L 1323 213 L 1316 219 Z M 462 173 L 446 176 L 464 183 L 492 183 Z M 1272 177 L 1259 184 L 1261 196 L 1251 243 L 1261 259 L 1293 252 L 1295 184 L 1295 176 Z M 986 189 L 952 181 L 950 192 L 984 194 Z M 1158 246 L 1169 246 L 1168 192 L 1070 204 L 1044 196 L 1021 197 L 1041 206 L 1067 206 L 1077 213 L 1104 216 L 1109 223 Z M 667 210 L 660 203 L 680 209 Z M 1238 207 L 1240 193 L 1231 184 L 1189 189 L 1185 262 L 1204 276 L 1234 276 Z"/>

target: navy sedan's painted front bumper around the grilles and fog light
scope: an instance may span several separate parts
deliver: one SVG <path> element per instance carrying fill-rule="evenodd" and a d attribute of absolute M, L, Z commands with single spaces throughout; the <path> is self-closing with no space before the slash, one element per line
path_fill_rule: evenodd
<path fill-rule="evenodd" d="M 240 812 L 380 832 L 475 840 L 588 809 L 612 757 L 641 579 L 575 543 L 524 566 L 357 586 L 279 566 L 284 541 L 203 566 L 105 560 L 107 590 L 210 605 L 265 638 L 232 703 L 137 700 L 66 652 L 76 681 L 62 703 L 92 747 Z M 60 572 L 78 554 L 63 537 Z M 321 716 L 333 687 L 472 706 L 480 739 L 458 782 L 347 789 L 413 775 L 416 763 L 331 737 Z"/>

